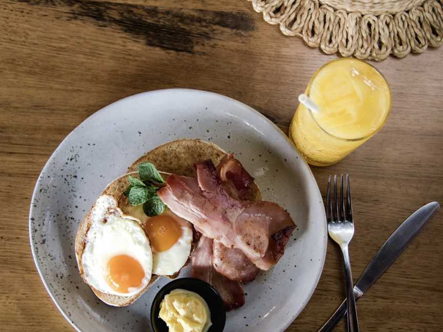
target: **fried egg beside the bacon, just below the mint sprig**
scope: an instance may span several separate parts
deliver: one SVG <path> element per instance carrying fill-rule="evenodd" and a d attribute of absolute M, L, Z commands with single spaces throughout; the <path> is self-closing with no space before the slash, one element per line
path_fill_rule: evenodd
<path fill-rule="evenodd" d="M 191 253 L 191 224 L 168 209 L 155 217 L 148 217 L 143 212 L 142 205 L 124 205 L 122 210 L 142 221 L 152 248 L 152 273 L 172 276 L 180 271 Z"/>

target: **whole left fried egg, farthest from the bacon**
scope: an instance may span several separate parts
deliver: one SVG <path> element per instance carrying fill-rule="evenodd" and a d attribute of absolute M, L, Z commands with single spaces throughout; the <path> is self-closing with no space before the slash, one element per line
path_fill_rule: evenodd
<path fill-rule="evenodd" d="M 132 296 L 151 280 L 152 251 L 138 220 L 125 216 L 111 196 L 98 197 L 82 255 L 84 278 L 98 291 Z"/>

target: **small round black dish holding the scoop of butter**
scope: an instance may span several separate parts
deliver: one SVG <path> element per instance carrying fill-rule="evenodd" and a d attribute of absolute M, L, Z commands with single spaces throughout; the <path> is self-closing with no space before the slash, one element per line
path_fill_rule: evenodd
<path fill-rule="evenodd" d="M 160 303 L 162 303 L 166 294 L 169 294 L 173 289 L 177 288 L 186 289 L 187 291 L 197 293 L 206 301 L 206 303 L 208 303 L 212 322 L 208 332 L 223 331 L 226 322 L 226 311 L 223 300 L 216 289 L 200 279 L 180 278 L 175 279 L 163 286 L 163 288 L 158 291 L 154 301 L 152 301 L 151 324 L 154 332 L 168 332 L 168 326 L 166 325 L 165 321 L 158 317 L 158 313 L 160 312 Z"/>

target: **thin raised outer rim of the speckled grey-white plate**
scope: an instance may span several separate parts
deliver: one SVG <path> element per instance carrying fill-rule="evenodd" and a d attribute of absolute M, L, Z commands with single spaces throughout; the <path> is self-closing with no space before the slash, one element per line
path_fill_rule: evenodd
<path fill-rule="evenodd" d="M 261 114 L 260 112 L 256 111 L 255 109 L 251 108 L 250 106 L 246 105 L 243 102 L 240 102 L 236 99 L 224 96 L 224 95 L 220 95 L 218 93 L 214 93 L 214 92 L 210 92 L 210 91 L 204 91 L 204 90 L 196 90 L 196 89 L 183 89 L 183 88 L 176 88 L 176 89 L 160 89 L 160 90 L 153 90 L 153 91 L 147 91 L 147 92 L 141 92 L 141 93 L 137 93 L 119 100 L 116 100 L 112 103 L 110 103 L 109 105 L 105 106 L 104 108 L 96 111 L 95 113 L 91 114 L 89 117 L 87 117 L 85 120 L 83 120 L 80 124 L 78 124 L 77 127 L 75 127 L 63 140 L 62 142 L 58 145 L 58 147 L 54 150 L 54 152 L 51 154 L 51 156 L 49 157 L 48 161 L 46 162 L 45 166 L 43 167 L 41 173 L 39 174 L 39 176 L 37 177 L 36 180 L 36 184 L 34 187 L 34 191 L 32 193 L 32 198 L 31 198 L 31 204 L 30 204 L 30 210 L 29 210 L 29 223 L 28 223 L 28 228 L 29 228 L 29 240 L 30 240 L 30 245 L 31 245 L 31 252 L 32 252 L 32 257 L 35 263 L 35 266 L 37 268 L 37 272 L 38 275 L 40 277 L 40 279 L 42 280 L 46 291 L 48 292 L 48 294 L 50 295 L 52 301 L 55 303 L 57 309 L 59 310 L 59 312 L 62 313 L 63 317 L 79 332 L 83 332 L 82 330 L 80 330 L 80 328 L 78 328 L 78 326 L 74 323 L 74 321 L 68 317 L 68 315 L 64 312 L 64 310 L 62 309 L 62 306 L 60 303 L 58 303 L 58 301 L 55 299 L 54 294 L 51 292 L 50 287 L 48 286 L 48 283 L 46 282 L 45 278 L 43 277 L 43 272 L 41 269 L 40 264 L 38 263 L 38 259 L 36 257 L 36 251 L 35 251 L 35 247 L 34 247 L 34 241 L 33 241 L 33 234 L 32 234 L 32 220 L 31 217 L 33 215 L 33 210 L 34 210 L 34 201 L 36 196 L 38 195 L 38 191 L 39 191 L 39 183 L 38 183 L 38 179 L 41 177 L 42 173 L 45 173 L 47 171 L 47 169 L 49 169 L 49 165 L 52 161 L 52 159 L 54 158 L 54 156 L 57 154 L 57 152 L 59 150 L 62 150 L 64 148 L 65 142 L 68 140 L 68 138 L 74 134 L 74 132 L 77 130 L 77 128 L 79 128 L 80 126 L 82 126 L 82 124 L 89 120 L 92 119 L 94 117 L 100 116 L 102 113 L 105 113 L 106 110 L 112 106 L 114 106 L 116 103 L 121 103 L 121 102 L 129 102 L 131 99 L 136 99 L 138 97 L 140 97 L 140 95 L 149 95 L 149 94 L 156 94 L 159 92 L 200 92 L 200 93 L 205 93 L 205 94 L 209 94 L 209 95 L 214 95 L 215 97 L 218 98 L 222 98 L 222 99 L 226 99 L 228 101 L 231 102 L 235 102 L 238 103 L 241 107 L 244 107 L 245 109 L 247 109 L 251 115 L 254 115 L 256 117 L 258 117 L 261 121 L 264 121 L 268 124 L 271 125 L 271 127 L 276 131 L 276 134 L 280 135 L 281 137 L 283 137 L 286 142 L 288 143 L 288 147 L 290 150 L 292 150 L 292 152 L 298 156 L 300 156 L 299 152 L 295 149 L 295 147 L 293 146 L 292 142 L 290 141 L 290 139 L 285 135 L 285 133 L 283 131 L 281 131 L 280 128 L 278 128 L 276 126 L 276 124 L 274 122 L 272 122 L 271 120 L 269 120 L 266 116 L 264 116 L 263 114 Z M 323 268 L 324 268 L 324 264 L 325 264 L 325 259 L 326 259 L 326 252 L 327 252 L 327 244 L 328 244 L 328 237 L 327 237 L 327 224 L 326 224 L 326 212 L 325 212 L 325 207 L 324 207 L 324 202 L 323 202 L 323 197 L 321 197 L 320 194 L 320 190 L 318 188 L 318 185 L 316 184 L 314 175 L 312 174 L 311 169 L 309 168 L 308 163 L 305 161 L 305 159 L 303 157 L 299 157 L 298 158 L 300 160 L 300 163 L 303 164 L 303 168 L 304 168 L 304 172 L 306 174 L 308 174 L 313 182 L 315 183 L 315 191 L 317 194 L 317 197 L 319 197 L 320 199 L 320 209 L 321 209 L 321 215 L 324 216 L 324 220 L 321 221 L 321 224 L 323 224 L 323 234 L 320 234 L 319 238 L 319 245 L 323 248 L 323 255 L 321 256 L 321 261 L 320 261 L 320 266 L 321 268 L 318 269 L 316 277 L 315 277 L 315 283 L 312 284 L 311 289 L 309 290 L 309 296 L 306 298 L 306 301 L 304 301 L 304 304 L 300 306 L 299 310 L 297 310 L 297 312 L 295 312 L 293 314 L 293 318 L 288 320 L 285 323 L 282 323 L 282 325 L 280 326 L 281 330 L 285 330 L 287 327 L 289 327 L 289 325 L 292 324 L 292 322 L 298 317 L 298 315 L 303 311 L 303 309 L 305 308 L 305 306 L 308 304 L 309 300 L 311 299 L 315 288 L 317 287 L 318 281 L 320 280 L 320 276 L 321 273 L 323 272 Z"/>

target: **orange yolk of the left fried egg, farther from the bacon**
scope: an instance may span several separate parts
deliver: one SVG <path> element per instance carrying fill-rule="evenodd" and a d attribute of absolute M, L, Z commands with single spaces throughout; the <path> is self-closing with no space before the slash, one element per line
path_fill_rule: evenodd
<path fill-rule="evenodd" d="M 135 258 L 128 255 L 118 255 L 108 261 L 106 277 L 115 291 L 129 293 L 130 287 L 142 285 L 145 271 Z"/>

